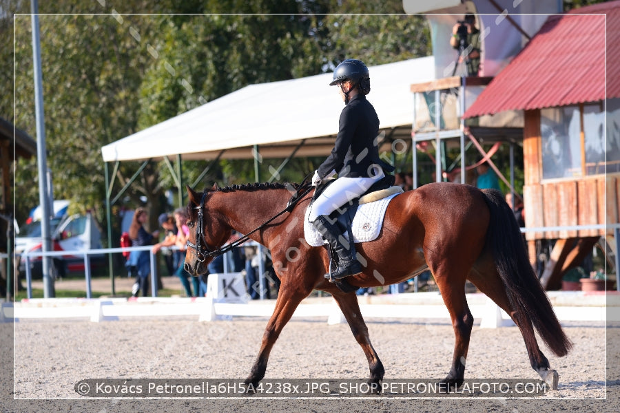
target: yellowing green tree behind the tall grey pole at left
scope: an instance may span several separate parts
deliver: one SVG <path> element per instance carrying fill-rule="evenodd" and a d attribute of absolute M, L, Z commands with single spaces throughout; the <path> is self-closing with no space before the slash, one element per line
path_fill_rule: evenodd
<path fill-rule="evenodd" d="M 99 148 L 136 131 L 138 87 L 148 58 L 136 53 L 140 45 L 134 37 L 107 15 L 46 15 L 40 24 L 46 147 L 54 195 L 92 209 L 101 222 L 105 182 Z M 149 24 L 136 17 L 132 27 L 148 29 Z M 84 36 L 85 32 L 92 35 Z M 15 19 L 15 37 L 14 120 L 34 136 L 30 17 Z M 16 187 L 36 182 L 36 164 L 33 159 L 18 169 Z M 24 191 L 28 193 L 21 201 L 31 195 L 38 204 L 34 189 Z"/>

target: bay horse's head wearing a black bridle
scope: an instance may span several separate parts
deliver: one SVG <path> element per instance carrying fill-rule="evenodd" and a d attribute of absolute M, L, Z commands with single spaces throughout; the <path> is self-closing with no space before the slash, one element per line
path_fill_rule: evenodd
<path fill-rule="evenodd" d="M 183 268 L 194 276 L 207 273 L 207 264 L 214 258 L 211 253 L 223 246 L 231 235 L 231 227 L 214 208 L 216 202 L 211 198 L 216 190 L 214 185 L 211 190 L 196 193 L 187 187 L 189 238 Z"/>

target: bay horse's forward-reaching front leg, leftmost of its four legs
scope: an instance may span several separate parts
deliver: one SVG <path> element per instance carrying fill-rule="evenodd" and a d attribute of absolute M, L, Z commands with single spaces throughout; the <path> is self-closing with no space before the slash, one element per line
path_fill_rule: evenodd
<path fill-rule="evenodd" d="M 280 337 L 282 328 L 289 322 L 297 306 L 302 299 L 309 295 L 310 291 L 311 290 L 304 294 L 304 292 L 291 286 L 291 283 L 282 282 L 280 285 L 280 292 L 278 293 L 278 299 L 276 299 L 276 308 L 273 310 L 273 314 L 265 328 L 265 334 L 262 336 L 258 357 L 256 357 L 256 361 L 254 362 L 254 366 L 252 366 L 249 376 L 245 379 L 246 384 L 252 384 L 256 387 L 258 382 L 265 377 L 269 352 L 271 352 L 273 344 L 276 343 L 276 340 Z"/>

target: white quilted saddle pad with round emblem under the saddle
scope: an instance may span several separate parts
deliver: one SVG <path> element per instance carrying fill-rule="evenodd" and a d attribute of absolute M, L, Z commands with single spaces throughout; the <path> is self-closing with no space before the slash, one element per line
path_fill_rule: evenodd
<path fill-rule="evenodd" d="M 392 198 L 396 195 L 398 195 L 398 193 L 383 198 L 382 200 L 362 204 L 358 207 L 358 212 L 355 213 L 353 225 L 351 226 L 353 230 L 353 242 L 369 242 L 377 239 L 381 232 L 381 227 L 383 226 L 385 210 Z M 321 237 L 321 233 L 309 222 L 309 214 L 310 208 L 306 209 L 304 215 L 304 237 L 306 237 L 306 242 L 311 246 L 327 244 L 327 241 L 324 241 L 323 237 Z"/>

